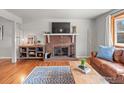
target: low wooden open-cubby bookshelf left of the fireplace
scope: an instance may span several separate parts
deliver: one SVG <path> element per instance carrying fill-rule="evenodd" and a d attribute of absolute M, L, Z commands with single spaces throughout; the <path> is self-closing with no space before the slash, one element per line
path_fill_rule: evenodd
<path fill-rule="evenodd" d="M 44 45 L 19 46 L 20 59 L 44 59 Z"/>

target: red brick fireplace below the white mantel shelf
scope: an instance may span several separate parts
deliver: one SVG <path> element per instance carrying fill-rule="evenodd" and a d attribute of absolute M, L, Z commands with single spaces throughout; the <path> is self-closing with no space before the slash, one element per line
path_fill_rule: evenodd
<path fill-rule="evenodd" d="M 75 57 L 76 36 L 72 35 L 45 35 L 46 52 L 52 57 L 67 56 Z"/>

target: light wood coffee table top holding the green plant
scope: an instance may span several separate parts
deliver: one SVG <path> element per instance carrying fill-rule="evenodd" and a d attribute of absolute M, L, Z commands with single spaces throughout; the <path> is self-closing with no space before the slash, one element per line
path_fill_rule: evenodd
<path fill-rule="evenodd" d="M 86 63 L 86 66 L 89 67 L 91 71 L 87 74 L 84 74 L 78 68 L 80 61 L 70 61 L 69 63 L 76 84 L 108 84 L 108 82 L 88 63 Z"/>

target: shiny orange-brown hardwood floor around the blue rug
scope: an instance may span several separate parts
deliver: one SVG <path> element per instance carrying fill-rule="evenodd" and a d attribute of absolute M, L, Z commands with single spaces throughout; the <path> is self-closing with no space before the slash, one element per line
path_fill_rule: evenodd
<path fill-rule="evenodd" d="M 9 59 L 0 59 L 0 84 L 20 84 L 36 66 L 69 66 L 69 60 L 20 60 L 13 64 Z"/>

